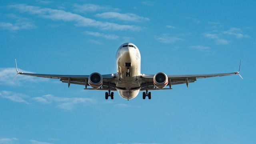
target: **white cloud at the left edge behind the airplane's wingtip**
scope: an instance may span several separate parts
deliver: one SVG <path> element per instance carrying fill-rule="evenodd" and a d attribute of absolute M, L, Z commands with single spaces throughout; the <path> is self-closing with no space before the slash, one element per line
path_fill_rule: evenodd
<path fill-rule="evenodd" d="M 18 69 L 20 72 L 32 73 L 25 70 Z M 34 76 L 22 76 L 18 75 L 15 79 L 14 76 L 17 74 L 16 68 L 0 68 L 0 85 L 8 86 L 21 86 L 25 82 L 42 82 L 47 79 L 36 78 Z"/>

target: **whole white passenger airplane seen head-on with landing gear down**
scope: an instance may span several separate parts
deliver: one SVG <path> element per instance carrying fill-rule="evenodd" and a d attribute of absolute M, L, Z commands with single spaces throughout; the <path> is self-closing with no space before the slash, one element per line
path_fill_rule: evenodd
<path fill-rule="evenodd" d="M 114 92 L 118 91 L 119 95 L 130 100 L 138 96 L 140 91 L 142 98 L 151 99 L 152 90 L 166 90 L 172 89 L 172 85 L 176 84 L 188 84 L 195 82 L 197 78 L 210 78 L 216 76 L 229 76 L 239 74 L 238 72 L 219 73 L 219 74 L 189 74 L 189 75 L 167 75 L 164 72 L 158 72 L 157 74 L 141 74 L 140 73 L 140 51 L 136 45 L 132 43 L 122 44 L 116 52 L 116 74 L 99 74 L 94 72 L 90 75 L 60 75 L 60 74 L 34 74 L 18 72 L 17 62 L 16 71 L 17 74 L 26 76 L 37 76 L 43 78 L 57 78 L 61 82 L 67 83 L 68 88 L 70 84 L 80 84 L 85 86 L 85 90 L 103 90 L 105 92 L 105 99 L 109 97 L 114 99 Z M 241 60 L 240 60 L 241 65 Z M 15 76 L 15 77 L 16 77 Z M 88 88 L 90 86 L 91 88 Z M 166 88 L 166 86 L 169 88 Z"/>

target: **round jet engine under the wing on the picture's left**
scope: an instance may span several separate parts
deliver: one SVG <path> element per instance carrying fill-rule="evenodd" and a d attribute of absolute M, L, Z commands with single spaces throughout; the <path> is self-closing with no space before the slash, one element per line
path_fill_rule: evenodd
<path fill-rule="evenodd" d="M 102 75 L 99 74 L 98 72 L 94 72 L 89 76 L 89 80 L 88 80 L 89 85 L 94 88 L 94 89 L 98 89 L 102 86 L 103 83 L 103 78 Z"/>

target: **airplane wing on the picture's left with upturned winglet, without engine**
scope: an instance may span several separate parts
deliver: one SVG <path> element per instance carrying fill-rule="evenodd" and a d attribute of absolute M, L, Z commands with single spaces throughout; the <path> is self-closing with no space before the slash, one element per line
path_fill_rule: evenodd
<path fill-rule="evenodd" d="M 15 62 L 16 62 L 16 60 L 15 60 Z M 36 76 L 36 77 L 41 77 L 41 78 L 57 78 L 57 79 L 60 79 L 61 82 L 68 83 L 68 87 L 70 86 L 70 84 L 80 84 L 80 85 L 84 85 L 85 89 L 94 90 L 93 88 L 87 88 L 87 86 L 89 85 L 88 78 L 90 75 L 24 73 L 24 72 L 18 72 L 17 63 L 16 63 L 16 71 L 17 71 L 17 75 L 20 74 L 20 75 L 25 75 L 25 76 Z M 116 91 L 115 77 L 116 77 L 116 74 L 102 75 L 102 78 L 103 78 L 102 87 L 99 89 L 96 89 L 96 90 L 109 90 L 110 89 L 110 90 Z"/>

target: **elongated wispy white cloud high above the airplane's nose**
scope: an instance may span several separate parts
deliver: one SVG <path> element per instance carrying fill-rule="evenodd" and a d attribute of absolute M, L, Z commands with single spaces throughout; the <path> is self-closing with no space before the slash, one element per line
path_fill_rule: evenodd
<path fill-rule="evenodd" d="M 95 16 L 100 18 L 105 18 L 105 19 L 112 18 L 112 19 L 129 21 L 129 22 L 141 22 L 141 21 L 150 20 L 149 18 L 138 16 L 136 14 L 131 14 L 131 13 L 121 14 L 118 12 L 103 12 L 101 14 L 96 14 Z"/>

